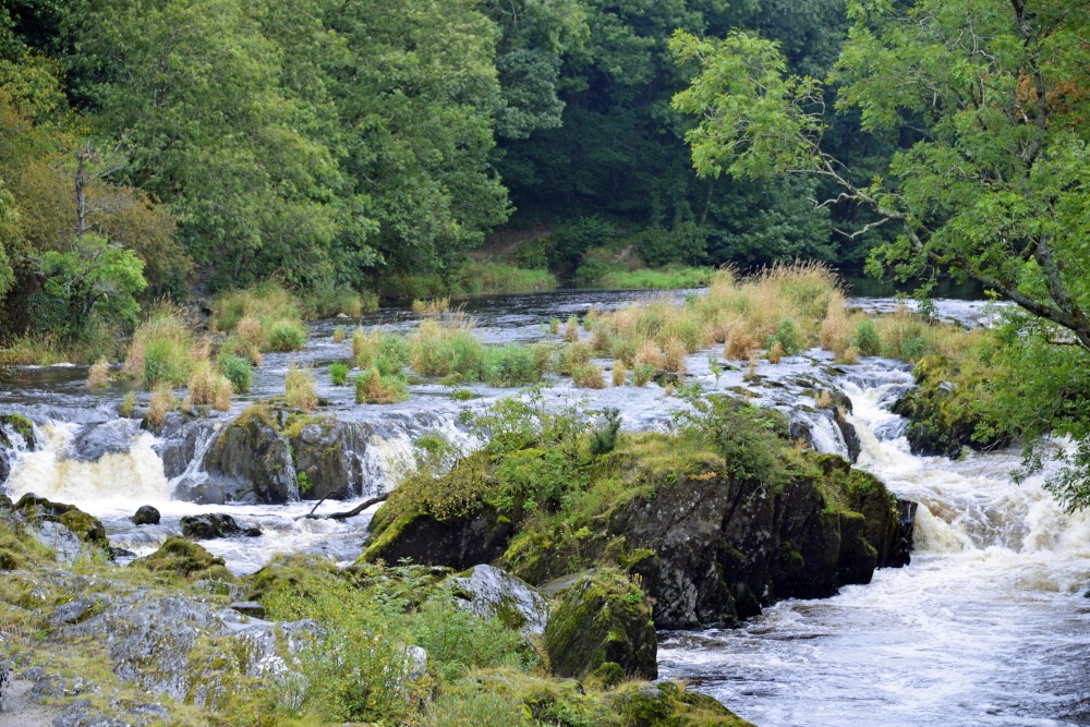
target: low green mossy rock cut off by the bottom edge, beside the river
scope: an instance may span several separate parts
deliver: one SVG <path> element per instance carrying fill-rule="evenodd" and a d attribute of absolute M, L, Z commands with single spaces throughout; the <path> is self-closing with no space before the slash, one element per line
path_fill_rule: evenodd
<path fill-rule="evenodd" d="M 711 696 L 673 681 L 632 684 L 606 699 L 626 727 L 753 727 Z"/>

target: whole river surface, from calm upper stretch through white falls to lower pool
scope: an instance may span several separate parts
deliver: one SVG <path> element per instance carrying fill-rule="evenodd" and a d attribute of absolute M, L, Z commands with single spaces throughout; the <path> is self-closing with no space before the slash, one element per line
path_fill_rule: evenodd
<path fill-rule="evenodd" d="M 497 296 L 470 303 L 468 312 L 486 340 L 529 342 L 549 338 L 543 324 L 550 317 L 646 296 L 585 291 Z M 883 311 L 895 302 L 852 299 L 850 304 Z M 940 312 L 970 325 L 994 315 L 985 304 L 966 301 L 942 301 Z M 391 329 L 416 322 L 399 308 L 363 320 Z M 311 365 L 332 413 L 375 427 L 362 455 L 368 476 L 362 499 L 391 485 L 421 433 L 438 429 L 472 446 L 459 412 L 512 393 L 474 386 L 475 398 L 460 402 L 447 387 L 421 384 L 405 403 L 358 407 L 349 388 L 334 387 L 322 375 L 350 355 L 347 343 L 332 341 L 334 328 L 344 323 L 314 324 L 305 351 L 267 356 L 250 397 L 209 423 L 209 440 L 246 400 L 281 392 L 291 363 Z M 828 419 L 807 405 L 813 403 L 812 389 L 827 385 L 845 391 L 861 445 L 857 464 L 920 504 L 917 549 L 909 567 L 881 570 L 869 585 L 848 586 L 822 601 L 780 603 L 739 629 L 662 633 L 662 676 L 689 680 L 761 727 L 1090 725 L 1090 599 L 1082 595 L 1090 582 L 1090 518 L 1065 514 L 1039 481 L 1014 484 L 1015 452 L 977 453 L 958 462 L 911 455 L 904 422 L 889 413 L 912 386 L 901 364 L 867 359 L 837 367 L 828 354 L 811 351 L 776 366 L 764 362 L 760 377 L 746 381 L 738 368 L 713 373 L 708 354 L 714 353 L 690 356 L 695 379 L 707 389 L 747 387 L 755 403 L 789 413 L 822 451 L 847 449 Z M 16 458 L 7 483 L 13 497 L 35 492 L 75 502 L 104 520 L 114 545 L 136 554 L 179 532 L 184 514 L 229 511 L 265 533 L 204 543 L 239 573 L 256 570 L 277 553 L 325 553 L 351 561 L 362 550 L 370 513 L 337 522 L 303 519 L 310 502 L 214 507 L 172 500 L 180 476 L 166 477 L 161 441 L 117 416 L 124 386 L 89 392 L 85 377 L 85 367 L 0 371 L 0 413 L 29 416 L 41 439 L 37 451 Z M 654 386 L 583 391 L 558 383 L 546 396 L 592 411 L 618 407 L 628 431 L 663 428 L 678 405 Z M 72 452 L 88 432 L 113 444 L 95 459 L 81 459 Z M 197 460 L 185 476 L 199 476 Z M 144 504 L 160 509 L 160 525 L 134 528 L 128 521 Z M 350 506 L 326 504 L 319 512 Z"/>

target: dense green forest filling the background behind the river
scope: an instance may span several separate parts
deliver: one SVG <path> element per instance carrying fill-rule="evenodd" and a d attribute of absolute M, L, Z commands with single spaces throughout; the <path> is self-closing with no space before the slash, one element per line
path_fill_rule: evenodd
<path fill-rule="evenodd" d="M 815 209 L 811 180 L 700 179 L 693 124 L 670 107 L 695 70 L 675 61 L 675 31 L 752 28 L 822 77 L 846 38 L 838 0 L 16 0 L 0 13 L 8 336 L 95 304 L 51 294 L 73 289 L 61 278 L 93 289 L 105 275 L 142 301 L 270 275 L 376 290 L 449 278 L 505 225 L 556 232 L 518 257 L 565 278 L 613 239 L 651 266 L 859 265 L 871 242 L 833 231 L 867 213 Z M 852 162 L 877 168 L 896 148 L 858 113 L 833 123 L 827 143 Z"/>

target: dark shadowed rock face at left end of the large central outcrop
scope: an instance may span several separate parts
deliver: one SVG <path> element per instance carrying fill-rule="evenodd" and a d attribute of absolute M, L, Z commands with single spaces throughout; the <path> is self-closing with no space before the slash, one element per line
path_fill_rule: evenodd
<path fill-rule="evenodd" d="M 371 521 L 374 534 L 362 561 L 411 558 L 422 566 L 465 570 L 501 556 L 514 533 L 511 520 L 492 505 L 449 518 L 413 512 L 389 522 L 382 516 L 379 509 Z"/>

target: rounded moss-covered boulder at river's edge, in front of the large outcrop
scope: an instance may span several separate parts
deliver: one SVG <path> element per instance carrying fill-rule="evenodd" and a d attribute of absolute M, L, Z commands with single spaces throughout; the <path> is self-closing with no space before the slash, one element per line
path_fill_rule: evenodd
<path fill-rule="evenodd" d="M 616 569 L 583 573 L 556 593 L 545 650 L 561 677 L 608 679 L 618 667 L 625 676 L 658 676 L 651 607 L 643 591 Z"/>

